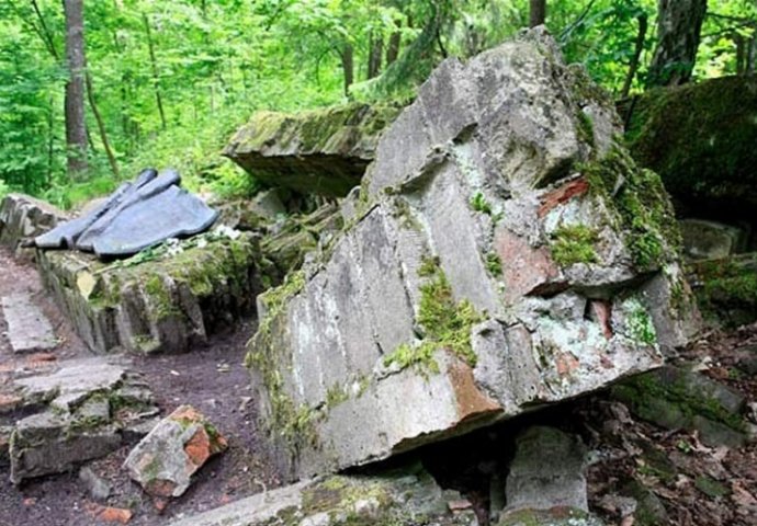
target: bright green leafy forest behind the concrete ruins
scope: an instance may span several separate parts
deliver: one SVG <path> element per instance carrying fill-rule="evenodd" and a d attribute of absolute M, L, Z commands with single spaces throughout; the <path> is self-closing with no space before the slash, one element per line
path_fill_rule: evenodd
<path fill-rule="evenodd" d="M 543 20 L 615 99 L 755 72 L 757 0 L 2 0 L 0 197 L 70 208 L 169 165 L 250 195 L 219 152 L 255 111 L 405 104 L 444 57 Z"/>

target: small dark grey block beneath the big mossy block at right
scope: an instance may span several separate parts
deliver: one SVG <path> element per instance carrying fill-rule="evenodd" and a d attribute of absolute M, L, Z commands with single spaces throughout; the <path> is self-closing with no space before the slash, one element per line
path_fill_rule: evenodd
<path fill-rule="evenodd" d="M 682 219 L 679 225 L 689 260 L 718 260 L 746 249 L 747 233 L 738 227 L 703 219 Z"/>

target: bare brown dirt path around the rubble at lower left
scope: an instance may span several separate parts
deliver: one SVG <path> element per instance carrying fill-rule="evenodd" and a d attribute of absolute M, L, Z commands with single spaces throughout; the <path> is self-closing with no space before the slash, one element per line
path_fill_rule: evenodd
<path fill-rule="evenodd" d="M 35 361 L 59 362 L 91 354 L 44 293 L 34 266 L 13 260 L 7 250 L 0 249 L 0 296 L 11 293 L 32 295 L 53 322 L 60 344 L 50 353 L 53 356 L 14 356 L 0 316 L 0 381 L 7 381 L 8 373 L 18 367 L 34 367 Z M 176 516 L 216 507 L 280 483 L 257 439 L 255 403 L 242 365 L 245 343 L 253 332 L 253 323 L 240 323 L 234 332 L 213 338 L 207 347 L 183 355 L 133 357 L 132 368 L 145 377 L 163 415 L 184 403 L 194 405 L 228 438 L 229 449 L 212 459 L 190 490 L 162 514 L 121 468 L 131 445 L 90 462 L 89 467 L 113 487 L 106 505 L 134 512 L 131 525 L 165 524 Z M 98 524 L 89 515 L 91 506 L 92 500 L 78 472 L 36 479 L 16 488 L 9 481 L 8 467 L 0 468 L 0 526 Z"/>

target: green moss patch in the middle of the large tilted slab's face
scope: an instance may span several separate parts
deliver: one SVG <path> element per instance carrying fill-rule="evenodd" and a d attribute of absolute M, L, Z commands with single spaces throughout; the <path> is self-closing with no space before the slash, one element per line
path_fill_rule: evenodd
<path fill-rule="evenodd" d="M 433 260 L 427 260 L 432 262 Z M 396 365 L 400 369 L 415 367 L 421 374 L 439 371 L 433 356 L 438 351 L 447 350 L 467 363 L 476 365 L 476 354 L 471 345 L 471 330 L 483 320 L 471 301 L 455 301 L 452 287 L 444 272 L 425 263 L 428 281 L 420 286 L 420 306 L 417 321 L 426 331 L 422 341 L 417 345 L 403 344 L 384 356 L 384 365 Z"/>

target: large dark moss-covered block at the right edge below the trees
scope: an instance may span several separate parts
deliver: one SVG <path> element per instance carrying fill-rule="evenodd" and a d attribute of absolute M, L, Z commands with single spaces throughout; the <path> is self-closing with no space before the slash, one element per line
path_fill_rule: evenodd
<path fill-rule="evenodd" d="M 675 197 L 698 206 L 757 204 L 757 78 L 649 91 L 621 104 L 634 159 Z"/>

